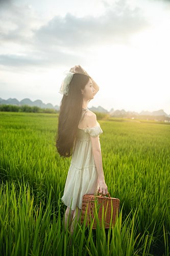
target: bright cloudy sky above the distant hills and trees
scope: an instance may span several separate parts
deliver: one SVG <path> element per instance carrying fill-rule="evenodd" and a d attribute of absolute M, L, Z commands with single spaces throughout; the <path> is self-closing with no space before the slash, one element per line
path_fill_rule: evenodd
<path fill-rule="evenodd" d="M 0 97 L 60 105 L 75 65 L 98 83 L 88 107 L 170 114 L 170 1 L 0 0 Z"/>

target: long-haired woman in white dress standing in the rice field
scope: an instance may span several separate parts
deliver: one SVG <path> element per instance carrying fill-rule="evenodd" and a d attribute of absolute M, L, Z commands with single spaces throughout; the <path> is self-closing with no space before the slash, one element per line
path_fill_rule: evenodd
<path fill-rule="evenodd" d="M 71 68 L 63 80 L 60 104 L 57 151 L 60 156 L 72 155 L 62 202 L 67 206 L 64 228 L 67 222 L 71 234 L 80 216 L 85 194 L 108 193 L 105 183 L 99 135 L 103 133 L 96 115 L 88 109 L 88 102 L 99 91 L 98 85 L 82 69 Z"/>

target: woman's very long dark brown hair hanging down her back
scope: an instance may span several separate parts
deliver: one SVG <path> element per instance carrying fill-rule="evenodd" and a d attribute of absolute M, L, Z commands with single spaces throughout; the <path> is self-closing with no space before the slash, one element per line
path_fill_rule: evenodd
<path fill-rule="evenodd" d="M 82 91 L 90 76 L 75 73 L 69 83 L 68 95 L 63 95 L 58 118 L 56 148 L 60 156 L 70 157 L 75 145 L 78 124 L 82 116 Z"/>

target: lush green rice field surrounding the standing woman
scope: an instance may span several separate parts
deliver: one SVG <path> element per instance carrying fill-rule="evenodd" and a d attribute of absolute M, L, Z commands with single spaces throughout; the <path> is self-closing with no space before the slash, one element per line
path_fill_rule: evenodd
<path fill-rule="evenodd" d="M 61 202 L 71 158 L 55 147 L 58 114 L 0 112 L 0 255 L 169 255 L 170 125 L 98 120 L 115 226 L 78 223 Z"/>

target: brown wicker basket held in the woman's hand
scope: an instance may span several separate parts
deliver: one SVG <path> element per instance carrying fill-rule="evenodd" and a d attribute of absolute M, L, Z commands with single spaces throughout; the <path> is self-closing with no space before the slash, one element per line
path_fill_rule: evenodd
<path fill-rule="evenodd" d="M 108 197 L 103 196 L 103 195 L 99 196 L 99 193 L 98 193 L 98 195 L 86 194 L 83 196 L 82 211 L 81 211 L 81 223 L 83 223 L 83 221 L 84 221 L 85 212 L 87 210 L 86 226 L 87 226 L 87 223 L 90 224 L 90 216 L 91 216 L 91 221 L 94 219 L 92 229 L 96 229 L 96 220 L 95 220 L 94 212 L 97 209 L 100 227 L 102 227 L 102 209 L 104 206 L 105 228 L 109 228 L 110 222 L 111 222 L 111 226 L 115 225 L 116 218 L 118 217 L 118 213 L 119 213 L 119 202 L 120 201 L 118 198 L 111 198 L 109 193 L 107 195 L 108 195 Z M 96 202 L 96 207 L 95 207 L 95 202 Z M 111 208 L 111 204 L 112 204 L 112 208 Z M 112 214 L 112 220 L 111 220 L 111 214 Z M 105 218 L 105 216 L 106 216 L 106 218 Z"/>

